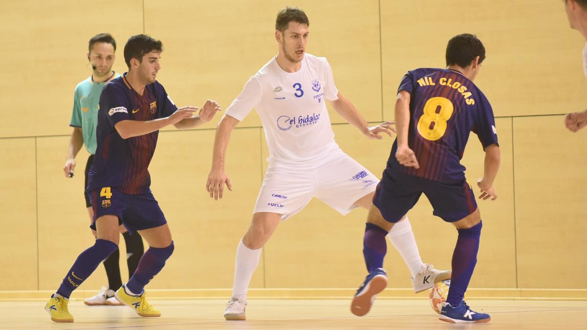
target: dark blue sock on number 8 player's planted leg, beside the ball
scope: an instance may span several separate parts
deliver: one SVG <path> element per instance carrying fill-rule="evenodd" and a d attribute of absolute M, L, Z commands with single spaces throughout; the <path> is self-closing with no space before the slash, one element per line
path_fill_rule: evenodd
<path fill-rule="evenodd" d="M 451 306 L 461 303 L 471 281 L 471 275 L 477 264 L 482 227 L 483 222 L 480 222 L 471 228 L 458 230 L 457 246 L 453 252 L 453 275 L 450 278 L 450 288 L 446 299 Z"/>

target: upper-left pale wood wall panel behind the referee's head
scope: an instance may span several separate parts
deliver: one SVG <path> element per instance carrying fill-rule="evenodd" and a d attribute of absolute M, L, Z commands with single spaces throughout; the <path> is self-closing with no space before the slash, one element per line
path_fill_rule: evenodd
<path fill-rule="evenodd" d="M 126 71 L 123 48 L 143 32 L 141 0 L 11 1 L 0 11 L 6 63 L 0 81 L 0 137 L 69 134 L 73 92 L 92 75 L 87 43 L 109 32 L 117 41 L 114 70 Z"/>

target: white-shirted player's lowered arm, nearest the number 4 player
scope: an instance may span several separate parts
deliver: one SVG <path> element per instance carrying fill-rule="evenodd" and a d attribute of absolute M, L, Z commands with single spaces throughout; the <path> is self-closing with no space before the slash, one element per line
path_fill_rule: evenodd
<path fill-rule="evenodd" d="M 224 163 L 230 134 L 238 123 L 239 120 L 235 117 L 224 115 L 216 129 L 214 150 L 212 151 L 212 169 L 208 174 L 208 180 L 206 180 L 206 191 L 210 193 L 210 198 L 214 198 L 214 200 L 222 198 L 224 184 L 226 184 L 228 190 L 232 191 L 232 184 L 224 171 Z"/>

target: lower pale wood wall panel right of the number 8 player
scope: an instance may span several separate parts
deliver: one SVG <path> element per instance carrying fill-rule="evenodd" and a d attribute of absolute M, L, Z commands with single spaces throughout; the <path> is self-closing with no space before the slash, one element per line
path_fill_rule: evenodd
<path fill-rule="evenodd" d="M 519 288 L 585 289 L 587 131 L 562 116 L 514 118 Z"/>

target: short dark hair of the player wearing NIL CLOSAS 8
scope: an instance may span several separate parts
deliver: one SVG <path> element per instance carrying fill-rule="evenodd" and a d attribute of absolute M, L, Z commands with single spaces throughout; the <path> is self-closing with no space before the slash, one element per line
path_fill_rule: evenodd
<path fill-rule="evenodd" d="M 479 63 L 485 59 L 485 47 L 476 35 L 463 33 L 453 36 L 446 46 L 446 65 L 466 68 L 479 56 Z"/>

